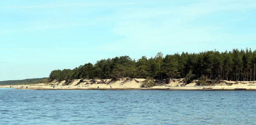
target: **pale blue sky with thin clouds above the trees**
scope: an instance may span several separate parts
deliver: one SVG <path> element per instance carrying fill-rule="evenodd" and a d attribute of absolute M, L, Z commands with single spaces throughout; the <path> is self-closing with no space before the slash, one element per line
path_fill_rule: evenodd
<path fill-rule="evenodd" d="M 0 81 L 124 55 L 255 50 L 255 14 L 256 0 L 1 0 Z"/>

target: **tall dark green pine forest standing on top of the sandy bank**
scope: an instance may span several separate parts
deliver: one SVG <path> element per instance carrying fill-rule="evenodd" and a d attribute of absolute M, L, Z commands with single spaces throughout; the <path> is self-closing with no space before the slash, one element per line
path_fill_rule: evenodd
<path fill-rule="evenodd" d="M 187 78 L 198 80 L 255 80 L 256 51 L 251 49 L 232 51 L 204 51 L 196 53 L 167 54 L 161 52 L 155 57 L 145 56 L 132 60 L 129 56 L 108 58 L 94 65 L 86 63 L 74 69 L 54 70 L 50 80 L 146 78 L 157 80 Z"/>

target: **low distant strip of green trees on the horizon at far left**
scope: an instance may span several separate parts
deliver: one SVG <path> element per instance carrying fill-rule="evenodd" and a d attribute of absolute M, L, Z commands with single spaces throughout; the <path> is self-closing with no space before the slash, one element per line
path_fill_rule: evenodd
<path fill-rule="evenodd" d="M 30 85 L 38 83 L 47 83 L 49 78 L 36 78 L 36 79 L 26 79 L 26 80 L 8 80 L 0 81 L 0 85 Z"/>

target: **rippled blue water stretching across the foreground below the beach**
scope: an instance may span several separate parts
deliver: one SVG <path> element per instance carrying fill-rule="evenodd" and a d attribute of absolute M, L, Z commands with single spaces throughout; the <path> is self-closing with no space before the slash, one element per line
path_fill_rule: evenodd
<path fill-rule="evenodd" d="M 256 124 L 256 91 L 0 89 L 0 125 Z"/>

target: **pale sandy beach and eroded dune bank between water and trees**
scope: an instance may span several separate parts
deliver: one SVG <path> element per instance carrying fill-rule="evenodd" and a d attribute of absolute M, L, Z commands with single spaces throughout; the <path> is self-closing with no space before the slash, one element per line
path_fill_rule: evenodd
<path fill-rule="evenodd" d="M 91 89 L 97 89 L 99 86 L 99 89 L 112 89 L 114 90 L 122 90 L 122 89 L 168 89 L 168 90 L 234 90 L 235 88 L 242 88 L 246 90 L 256 90 L 256 81 L 252 82 L 230 82 L 230 81 L 224 81 L 222 83 L 218 83 L 214 86 L 195 86 L 195 81 L 192 83 L 180 87 L 183 83 L 180 82 L 183 79 L 171 79 L 169 83 L 163 83 L 158 86 L 154 86 L 151 88 L 141 88 L 141 82 L 145 79 L 128 79 L 123 78 L 117 81 L 111 81 L 111 79 L 107 80 L 73 80 L 69 83 L 69 85 L 64 85 L 65 81 L 61 82 L 50 82 L 50 83 L 40 83 L 40 84 L 34 84 L 34 85 L 0 85 L 0 88 L 10 88 L 12 86 L 13 88 L 21 89 L 20 86 L 23 86 L 22 89 L 26 89 L 26 86 L 28 86 L 28 89 L 36 89 L 36 90 L 91 90 Z M 80 83 L 79 83 L 80 82 Z M 230 85 L 228 85 L 230 84 Z M 55 85 L 55 88 L 53 89 L 52 85 Z"/>

